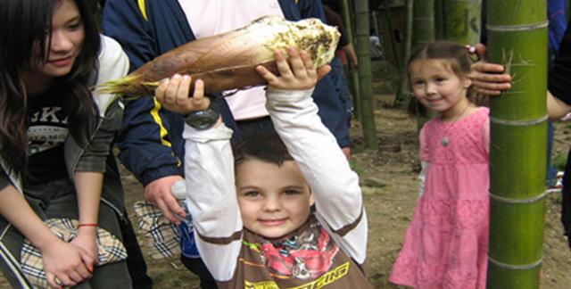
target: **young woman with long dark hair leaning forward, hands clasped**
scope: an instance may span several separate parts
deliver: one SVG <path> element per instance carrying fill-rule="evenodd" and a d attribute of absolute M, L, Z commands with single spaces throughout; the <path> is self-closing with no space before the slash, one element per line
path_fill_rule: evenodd
<path fill-rule="evenodd" d="M 94 4 L 0 3 L 0 268 L 14 287 L 130 286 L 102 195 L 122 111 L 90 91 L 98 70 L 124 74 L 128 60 L 119 45 L 100 54 L 112 40 Z"/>

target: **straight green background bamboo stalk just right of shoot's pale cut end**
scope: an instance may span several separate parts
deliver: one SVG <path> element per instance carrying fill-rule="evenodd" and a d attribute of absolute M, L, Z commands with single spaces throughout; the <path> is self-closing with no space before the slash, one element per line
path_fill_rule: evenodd
<path fill-rule="evenodd" d="M 377 129 L 373 111 L 373 95 L 371 91 L 371 57 L 368 37 L 368 0 L 355 0 L 355 31 L 357 33 L 356 50 L 359 58 L 360 112 L 363 136 L 368 149 L 376 150 Z"/>

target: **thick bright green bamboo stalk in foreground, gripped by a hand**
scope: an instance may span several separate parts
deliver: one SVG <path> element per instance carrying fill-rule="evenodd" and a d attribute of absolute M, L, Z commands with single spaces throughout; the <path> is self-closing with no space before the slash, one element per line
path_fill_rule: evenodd
<path fill-rule="evenodd" d="M 513 87 L 491 102 L 488 288 L 539 288 L 547 159 L 546 3 L 487 3 L 488 56 Z"/>

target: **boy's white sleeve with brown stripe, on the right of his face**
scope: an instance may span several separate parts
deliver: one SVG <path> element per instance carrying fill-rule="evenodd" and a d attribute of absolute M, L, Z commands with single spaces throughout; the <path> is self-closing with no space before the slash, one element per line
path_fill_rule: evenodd
<path fill-rule="evenodd" d="M 367 217 L 359 177 L 323 125 L 312 90 L 269 90 L 266 108 L 316 201 L 317 217 L 354 260 L 367 252 Z"/>

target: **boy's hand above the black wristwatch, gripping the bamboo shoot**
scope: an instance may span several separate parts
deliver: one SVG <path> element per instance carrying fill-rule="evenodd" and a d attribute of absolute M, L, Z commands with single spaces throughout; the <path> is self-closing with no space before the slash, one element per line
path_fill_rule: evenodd
<path fill-rule="evenodd" d="M 204 97 L 203 80 L 194 81 L 194 94 L 193 97 L 189 97 L 191 80 L 190 76 L 179 74 L 175 74 L 172 78 L 165 78 L 154 90 L 154 95 L 169 111 L 187 114 L 192 111 L 205 110 L 211 100 Z"/>

